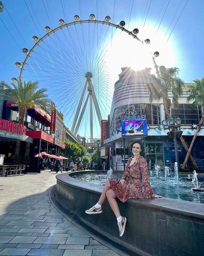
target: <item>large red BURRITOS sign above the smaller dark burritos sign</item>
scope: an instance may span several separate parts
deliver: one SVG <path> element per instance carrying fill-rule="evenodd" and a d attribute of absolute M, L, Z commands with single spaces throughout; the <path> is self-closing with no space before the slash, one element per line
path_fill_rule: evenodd
<path fill-rule="evenodd" d="M 10 131 L 14 133 L 19 133 L 25 135 L 26 133 L 26 126 L 25 125 L 20 125 L 18 123 L 4 120 L 0 118 L 0 130 L 2 131 Z"/>

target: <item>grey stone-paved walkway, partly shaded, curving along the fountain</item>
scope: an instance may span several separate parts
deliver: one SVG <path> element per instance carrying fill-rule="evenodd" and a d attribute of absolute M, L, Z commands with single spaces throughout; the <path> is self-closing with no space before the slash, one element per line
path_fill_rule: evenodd
<path fill-rule="evenodd" d="M 0 255 L 119 256 L 53 207 L 48 194 L 55 176 L 45 170 L 0 177 Z"/>

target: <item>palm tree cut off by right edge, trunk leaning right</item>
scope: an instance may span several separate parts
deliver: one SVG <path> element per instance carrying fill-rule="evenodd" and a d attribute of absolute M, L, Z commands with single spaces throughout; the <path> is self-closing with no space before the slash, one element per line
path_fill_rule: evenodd
<path fill-rule="evenodd" d="M 185 160 L 183 162 L 182 169 L 185 169 L 185 166 L 188 162 L 189 155 L 191 153 L 191 150 L 192 150 L 193 144 L 195 142 L 195 139 L 196 139 L 196 137 L 198 135 L 198 132 L 200 131 L 201 126 L 203 125 L 203 122 L 204 122 L 204 77 L 202 77 L 201 79 L 194 80 L 194 83 L 189 86 L 189 91 L 188 92 L 190 93 L 190 95 L 187 97 L 187 101 L 190 102 L 190 101 L 193 100 L 193 103 L 192 103 L 193 106 L 202 105 L 203 115 L 202 115 L 201 120 L 198 124 L 198 128 L 195 131 L 195 134 L 193 136 L 193 139 L 192 139 L 192 142 L 190 144 L 189 150 L 188 150 L 188 152 L 186 154 L 186 157 L 185 157 Z"/>

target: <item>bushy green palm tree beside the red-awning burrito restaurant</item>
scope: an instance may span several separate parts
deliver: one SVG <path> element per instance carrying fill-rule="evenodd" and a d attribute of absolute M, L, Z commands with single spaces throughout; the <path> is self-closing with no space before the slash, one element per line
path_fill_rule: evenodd
<path fill-rule="evenodd" d="M 37 90 L 37 81 L 24 81 L 22 83 L 21 80 L 18 80 L 17 85 L 12 83 L 12 86 L 10 86 L 7 83 L 3 83 L 3 86 L 6 88 L 6 90 L 0 88 L 0 94 L 3 95 L 4 99 L 12 100 L 19 105 L 19 124 L 21 125 L 24 124 L 24 118 L 27 109 L 37 106 L 40 109 L 46 111 L 47 106 L 50 103 L 50 100 L 47 98 L 47 95 L 45 94 L 46 89 Z M 19 157 L 20 144 L 21 141 L 17 140 L 14 155 L 15 159 Z M 30 144 L 26 144 L 26 146 L 27 154 L 29 154 L 28 148 L 30 148 Z"/>

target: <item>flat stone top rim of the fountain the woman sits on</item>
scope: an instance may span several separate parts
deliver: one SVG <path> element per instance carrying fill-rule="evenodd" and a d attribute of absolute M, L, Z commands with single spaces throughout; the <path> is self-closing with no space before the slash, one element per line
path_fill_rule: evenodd
<path fill-rule="evenodd" d="M 74 179 L 71 176 L 80 174 L 82 172 L 62 173 L 56 176 L 59 182 L 67 184 L 75 188 L 80 188 L 87 192 L 95 192 L 101 194 L 103 186 L 93 183 L 88 183 L 82 180 Z M 105 171 L 83 171 L 83 173 L 105 173 Z M 120 172 L 118 172 L 120 173 Z M 173 198 L 148 198 L 148 199 L 129 199 L 129 205 L 136 207 L 148 208 L 154 211 L 160 211 L 167 214 L 178 214 L 188 218 L 196 218 L 204 221 L 204 204 L 196 202 L 184 201 Z"/>

